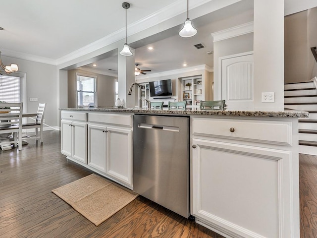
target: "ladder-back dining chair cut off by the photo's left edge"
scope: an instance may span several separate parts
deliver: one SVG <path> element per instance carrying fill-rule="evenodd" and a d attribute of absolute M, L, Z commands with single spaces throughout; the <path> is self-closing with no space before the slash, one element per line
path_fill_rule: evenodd
<path fill-rule="evenodd" d="M 22 133 L 23 103 L 0 103 L 0 146 L 2 150 L 11 149 L 18 145 L 22 149 L 22 140 L 18 134 Z M 9 136 L 13 133 L 13 140 Z"/>

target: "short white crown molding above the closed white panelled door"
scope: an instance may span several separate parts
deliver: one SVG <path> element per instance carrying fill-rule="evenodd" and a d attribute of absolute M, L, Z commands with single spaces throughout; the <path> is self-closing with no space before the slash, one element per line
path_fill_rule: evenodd
<path fill-rule="evenodd" d="M 253 32 L 253 21 L 239 26 L 234 26 L 222 31 L 211 33 L 213 42 L 222 41 L 236 36 L 241 36 Z"/>

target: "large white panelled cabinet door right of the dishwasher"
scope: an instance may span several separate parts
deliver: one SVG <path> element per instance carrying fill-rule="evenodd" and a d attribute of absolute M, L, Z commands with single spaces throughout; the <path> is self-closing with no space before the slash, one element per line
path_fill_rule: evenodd
<path fill-rule="evenodd" d="M 198 223 L 233 237 L 294 237 L 292 152 L 195 138 L 192 151 Z"/>

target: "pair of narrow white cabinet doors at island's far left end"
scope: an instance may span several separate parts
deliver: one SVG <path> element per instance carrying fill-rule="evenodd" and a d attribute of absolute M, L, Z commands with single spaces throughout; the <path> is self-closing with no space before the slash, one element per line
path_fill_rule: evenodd
<path fill-rule="evenodd" d="M 61 120 L 61 153 L 87 164 L 87 122 Z"/>

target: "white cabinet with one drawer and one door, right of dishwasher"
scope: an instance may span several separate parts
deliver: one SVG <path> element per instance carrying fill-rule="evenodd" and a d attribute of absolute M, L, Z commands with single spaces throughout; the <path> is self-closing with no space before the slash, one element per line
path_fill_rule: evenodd
<path fill-rule="evenodd" d="M 192 215 L 226 237 L 299 237 L 297 122 L 227 118 L 192 119 Z"/>

